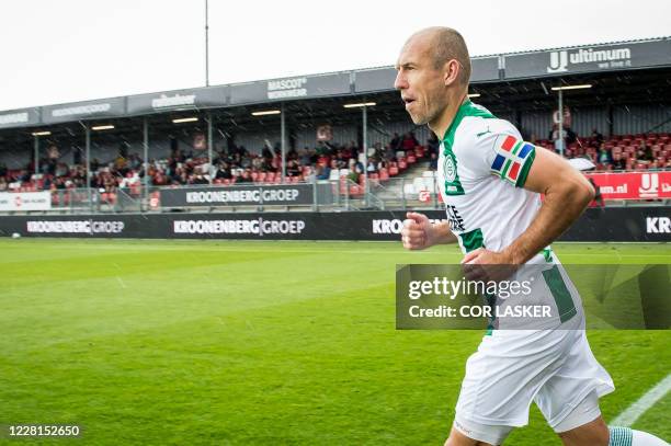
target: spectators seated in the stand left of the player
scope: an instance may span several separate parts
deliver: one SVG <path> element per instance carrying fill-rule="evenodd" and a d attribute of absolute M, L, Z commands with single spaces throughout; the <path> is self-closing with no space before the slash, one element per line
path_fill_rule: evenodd
<path fill-rule="evenodd" d="M 365 159 L 355 141 L 344 145 L 317 141 L 314 147 L 291 148 L 286 152 L 285 181 L 328 180 L 333 178 L 332 172 L 338 171 L 340 176 L 346 169 L 346 176 L 359 182 L 364 169 L 368 174 L 376 174 L 388 169 L 399 155 L 403 157 L 405 152 L 416 147 L 420 147 L 420 142 L 410 131 L 402 136 L 394 134 L 384 147 L 380 142 L 373 145 Z M 20 170 L 9 170 L 0 163 L 0 191 L 7 190 L 10 184 L 46 191 L 86 187 L 83 163 L 68 165 L 62 162 L 57 147 L 49 147 L 46 153 L 48 156 L 41 160 L 37 172 L 34 160 Z M 273 146 L 270 141 L 255 151 L 231 145 L 227 150 L 215 151 L 211 164 L 205 150 L 185 151 L 175 148 L 164 159 L 149 160 L 145 172 L 141 157 L 138 153 L 128 155 L 127 148 L 122 147 L 112 160 L 101 162 L 92 159 L 91 172 L 91 187 L 106 193 L 113 193 L 118 187 L 139 186 L 145 174 L 149 176 L 149 184 L 155 186 L 209 184 L 211 179 L 213 183 L 225 184 L 269 180 L 278 182 L 282 175 L 282 150 L 280 142 Z"/>

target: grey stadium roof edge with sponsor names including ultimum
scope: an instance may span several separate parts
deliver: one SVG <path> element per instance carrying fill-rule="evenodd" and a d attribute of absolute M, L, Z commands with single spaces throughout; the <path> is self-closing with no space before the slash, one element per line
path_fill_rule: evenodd
<path fill-rule="evenodd" d="M 627 84 L 627 79 L 632 89 L 641 88 L 649 92 L 649 83 L 634 85 L 626 72 L 647 68 L 671 68 L 671 37 L 477 56 L 471 58 L 471 62 L 470 82 L 475 89 L 487 84 L 494 91 L 510 90 L 511 81 L 514 83 L 519 80 L 567 77 L 601 79 L 610 73 L 615 76 L 611 76 L 612 82 L 603 90 L 603 94 L 623 93 L 622 85 Z M 0 129 L 379 94 L 394 90 L 395 77 L 394 67 L 388 66 L 27 107 L 0 112 Z M 653 75 L 652 78 L 657 78 L 659 82 L 659 75 Z M 547 95 L 544 81 L 537 84 L 536 93 Z M 512 91 L 519 93 L 514 87 Z M 522 98 L 526 98 L 526 94 L 532 102 L 535 101 L 536 93 L 521 92 Z M 638 94 L 637 91 L 630 93 L 634 96 Z"/>

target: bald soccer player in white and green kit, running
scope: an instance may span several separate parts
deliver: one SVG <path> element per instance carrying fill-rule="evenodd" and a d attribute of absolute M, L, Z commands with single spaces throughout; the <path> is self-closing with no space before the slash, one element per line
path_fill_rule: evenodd
<path fill-rule="evenodd" d="M 403 247 L 425 249 L 456 236 L 463 263 L 558 262 L 550 243 L 594 197 L 584 176 L 468 100 L 470 59 L 455 30 L 412 35 L 396 69 L 395 88 L 412 122 L 428 124 L 442 140 L 437 174 L 448 220 L 431 224 L 408 213 Z M 469 357 L 445 444 L 500 445 L 515 426 L 527 424 L 534 401 L 567 446 L 667 445 L 642 432 L 606 426 L 599 398 L 614 390 L 613 381 L 590 350 L 572 284 L 556 277 L 545 288 L 560 315 L 555 327 L 493 330 Z M 558 299 L 557 287 L 570 288 L 568 298 L 564 293 Z"/>

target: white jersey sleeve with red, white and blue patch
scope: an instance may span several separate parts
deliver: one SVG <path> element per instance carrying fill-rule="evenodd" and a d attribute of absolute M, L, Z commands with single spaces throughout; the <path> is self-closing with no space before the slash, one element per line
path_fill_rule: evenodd
<path fill-rule="evenodd" d="M 507 121 L 482 119 L 468 131 L 470 150 L 464 153 L 467 167 L 479 176 L 494 175 L 515 187 L 524 187 L 536 157 L 536 148 L 526 142 Z"/>

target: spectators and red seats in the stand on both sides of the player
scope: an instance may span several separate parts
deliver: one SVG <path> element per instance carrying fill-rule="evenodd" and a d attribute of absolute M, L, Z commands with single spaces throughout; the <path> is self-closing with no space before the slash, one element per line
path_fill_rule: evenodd
<path fill-rule="evenodd" d="M 562 138 L 562 141 L 559 140 Z M 555 127 L 548 139 L 530 141 L 548 150 L 562 152 L 566 158 L 584 157 L 598 170 L 646 170 L 671 168 L 671 139 L 669 134 L 621 135 L 605 138 L 598 129 L 589 137 L 579 138 L 570 129 L 558 135 Z M 561 146 L 564 145 L 564 146 Z M 437 169 L 440 141 L 433 134 L 421 145 L 412 131 L 394 134 L 384 146 L 376 142 L 364 158 L 355 141 L 339 145 L 317 141 L 312 147 L 291 148 L 286 153 L 286 182 L 333 180 L 346 176 L 354 183 L 361 182 L 366 170 L 368 175 L 383 174 L 387 178 L 405 165 L 406 157 L 414 155 L 429 161 L 429 169 Z M 564 147 L 564 150 L 561 150 Z M 184 151 L 175 148 L 164 159 L 149 160 L 145 172 L 144 160 L 138 153 L 127 153 L 127 147 L 118 149 L 116 156 L 106 161 L 91 161 L 90 185 L 101 192 L 113 193 L 120 187 L 139 186 L 145 174 L 153 186 L 280 182 L 282 175 L 282 152 L 280 142 L 274 146 L 265 141 L 253 151 L 243 146 L 230 145 L 226 150 L 215 151 L 212 164 L 205 150 L 192 148 Z M 59 156 L 58 148 L 46 150 L 47 157 L 39 162 L 35 172 L 34 160 L 24 169 L 10 170 L 0 162 L 0 191 L 27 187 L 30 190 L 57 191 L 86 187 L 86 167 L 80 159 L 67 164 Z M 365 161 L 365 165 L 364 165 Z M 414 161 L 412 161 L 414 162 Z M 401 169 L 402 170 L 402 169 Z M 36 173 L 36 174 L 34 174 Z"/>

